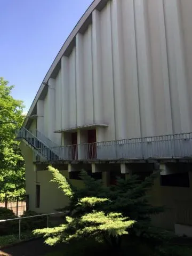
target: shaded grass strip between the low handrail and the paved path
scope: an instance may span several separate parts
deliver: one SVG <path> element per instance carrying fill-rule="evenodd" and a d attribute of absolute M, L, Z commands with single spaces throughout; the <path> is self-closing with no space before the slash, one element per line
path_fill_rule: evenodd
<path fill-rule="evenodd" d="M 21 234 L 21 240 L 19 240 L 19 234 L 12 234 L 6 236 L 0 236 L 0 249 L 2 247 L 19 243 L 21 241 L 25 241 L 27 239 L 35 237 L 30 231 L 26 231 L 25 233 Z"/>

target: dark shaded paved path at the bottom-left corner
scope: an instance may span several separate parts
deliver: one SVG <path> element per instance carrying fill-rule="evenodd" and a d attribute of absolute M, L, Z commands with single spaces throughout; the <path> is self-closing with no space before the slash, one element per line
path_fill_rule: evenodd
<path fill-rule="evenodd" d="M 62 244 L 57 246 L 45 245 L 43 238 L 14 245 L 0 250 L 0 256 L 42 256 L 46 253 L 57 251 L 62 248 Z"/>

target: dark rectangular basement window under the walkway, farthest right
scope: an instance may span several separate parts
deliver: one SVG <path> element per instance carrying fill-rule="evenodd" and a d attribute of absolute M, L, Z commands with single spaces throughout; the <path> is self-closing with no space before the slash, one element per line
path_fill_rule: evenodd
<path fill-rule="evenodd" d="M 189 188 L 189 173 L 182 172 L 169 175 L 161 175 L 161 186 Z"/>

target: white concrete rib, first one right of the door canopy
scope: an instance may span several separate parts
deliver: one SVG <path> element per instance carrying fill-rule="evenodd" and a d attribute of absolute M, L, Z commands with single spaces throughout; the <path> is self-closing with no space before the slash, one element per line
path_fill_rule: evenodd
<path fill-rule="evenodd" d="M 112 15 L 113 72 L 115 94 L 115 125 L 117 139 L 126 139 L 125 76 L 123 55 L 122 6 L 114 0 Z"/>

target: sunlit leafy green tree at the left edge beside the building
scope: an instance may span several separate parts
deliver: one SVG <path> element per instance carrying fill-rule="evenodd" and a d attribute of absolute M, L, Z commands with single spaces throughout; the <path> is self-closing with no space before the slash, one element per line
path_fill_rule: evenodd
<path fill-rule="evenodd" d="M 23 102 L 11 96 L 14 86 L 0 77 L 0 193 L 25 187 L 24 162 L 15 132 L 24 120 Z"/>

